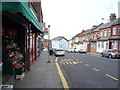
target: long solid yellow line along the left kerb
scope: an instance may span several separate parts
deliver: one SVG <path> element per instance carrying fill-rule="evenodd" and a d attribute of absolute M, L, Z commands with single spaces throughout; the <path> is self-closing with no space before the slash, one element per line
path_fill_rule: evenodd
<path fill-rule="evenodd" d="M 57 70 L 58 70 L 58 74 L 59 74 L 60 79 L 61 79 L 61 81 L 62 81 L 64 90 L 66 90 L 66 89 L 69 90 L 69 86 L 68 86 L 68 84 L 67 84 L 67 81 L 66 81 L 66 79 L 65 79 L 65 77 L 64 77 L 64 75 L 63 75 L 63 73 L 62 73 L 62 71 L 61 71 L 61 69 L 60 69 L 59 64 L 58 64 L 58 57 L 56 57 L 55 61 L 56 61 L 55 64 L 56 64 L 56 67 L 57 67 Z"/>

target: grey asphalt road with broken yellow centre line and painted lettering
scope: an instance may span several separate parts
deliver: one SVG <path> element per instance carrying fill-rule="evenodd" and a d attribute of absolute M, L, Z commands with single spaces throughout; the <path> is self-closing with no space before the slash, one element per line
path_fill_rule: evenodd
<path fill-rule="evenodd" d="M 118 59 L 66 52 L 58 62 L 70 88 L 118 88 Z"/>

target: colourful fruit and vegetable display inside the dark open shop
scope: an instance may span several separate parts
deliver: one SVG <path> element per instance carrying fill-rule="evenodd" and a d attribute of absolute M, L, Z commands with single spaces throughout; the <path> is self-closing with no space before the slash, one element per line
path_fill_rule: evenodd
<path fill-rule="evenodd" d="M 11 66 L 11 70 L 15 72 L 15 76 L 24 73 L 24 57 L 20 52 L 20 48 L 16 42 L 15 30 L 9 30 L 9 32 L 3 34 L 3 45 L 5 48 L 4 56 L 7 56 L 5 63 L 7 63 L 8 66 Z"/>

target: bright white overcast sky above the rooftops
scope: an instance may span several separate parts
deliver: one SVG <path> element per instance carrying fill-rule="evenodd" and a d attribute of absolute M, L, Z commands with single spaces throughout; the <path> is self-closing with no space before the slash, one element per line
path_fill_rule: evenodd
<path fill-rule="evenodd" d="M 43 21 L 50 25 L 50 39 L 68 40 L 83 29 L 108 22 L 110 13 L 118 17 L 120 0 L 41 0 Z M 104 20 L 102 20 L 104 18 Z M 47 36 L 45 36 L 47 38 Z"/>

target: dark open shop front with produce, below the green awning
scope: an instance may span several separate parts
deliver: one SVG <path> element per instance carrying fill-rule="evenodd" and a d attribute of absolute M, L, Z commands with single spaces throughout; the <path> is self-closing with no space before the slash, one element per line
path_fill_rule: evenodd
<path fill-rule="evenodd" d="M 25 72 L 25 28 L 5 17 L 4 14 L 3 20 L 2 83 L 12 84 L 17 75 L 23 75 Z"/>

